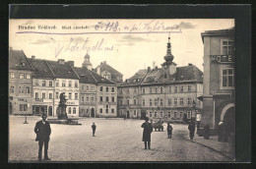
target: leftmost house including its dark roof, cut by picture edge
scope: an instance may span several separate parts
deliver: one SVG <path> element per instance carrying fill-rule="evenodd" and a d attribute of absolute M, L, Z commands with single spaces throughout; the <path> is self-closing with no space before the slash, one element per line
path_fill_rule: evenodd
<path fill-rule="evenodd" d="M 22 50 L 9 51 L 9 114 L 32 114 L 32 66 Z"/>

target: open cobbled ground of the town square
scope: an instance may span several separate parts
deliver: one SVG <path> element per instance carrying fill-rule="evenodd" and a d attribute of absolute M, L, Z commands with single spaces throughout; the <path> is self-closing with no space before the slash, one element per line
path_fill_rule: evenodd
<path fill-rule="evenodd" d="M 36 162 L 38 142 L 33 128 L 40 117 L 10 116 L 9 160 Z M 92 137 L 92 123 L 96 137 Z M 187 126 L 172 125 L 173 138 L 153 132 L 152 149 L 144 149 L 142 120 L 80 119 L 82 126 L 51 124 L 48 154 L 52 161 L 228 161 L 221 153 L 187 141 Z"/>

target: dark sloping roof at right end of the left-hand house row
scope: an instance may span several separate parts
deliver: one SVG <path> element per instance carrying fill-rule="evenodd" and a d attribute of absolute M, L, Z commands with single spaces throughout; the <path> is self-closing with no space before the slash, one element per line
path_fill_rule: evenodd
<path fill-rule="evenodd" d="M 79 82 L 83 84 L 114 84 L 103 77 L 100 77 L 96 74 L 96 72 L 91 71 L 85 67 L 77 68 L 75 67 L 74 70 L 80 77 Z"/>

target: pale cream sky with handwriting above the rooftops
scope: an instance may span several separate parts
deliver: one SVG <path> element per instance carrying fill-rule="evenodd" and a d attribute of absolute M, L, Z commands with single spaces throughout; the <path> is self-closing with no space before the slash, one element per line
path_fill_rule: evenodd
<path fill-rule="evenodd" d="M 81 67 L 86 54 L 93 68 L 100 62 L 124 75 L 164 62 L 170 36 L 173 62 L 203 70 L 201 33 L 234 27 L 233 19 L 171 20 L 10 20 L 9 47 L 28 58 L 74 61 Z"/>

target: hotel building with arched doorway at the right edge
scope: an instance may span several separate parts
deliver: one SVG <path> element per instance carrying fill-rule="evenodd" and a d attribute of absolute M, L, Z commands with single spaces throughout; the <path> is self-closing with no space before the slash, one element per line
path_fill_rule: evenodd
<path fill-rule="evenodd" d="M 234 136 L 234 28 L 209 30 L 201 35 L 204 43 L 204 106 L 201 124 L 209 124 L 212 133 L 217 134 L 221 122 L 228 135 Z"/>

